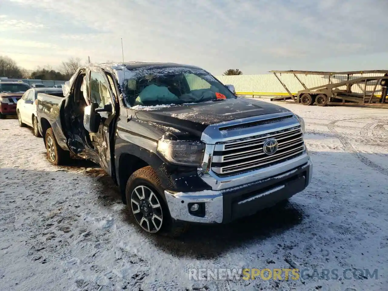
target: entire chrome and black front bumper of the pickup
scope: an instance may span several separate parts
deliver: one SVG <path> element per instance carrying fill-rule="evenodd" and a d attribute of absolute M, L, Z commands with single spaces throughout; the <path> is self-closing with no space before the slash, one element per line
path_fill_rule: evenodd
<path fill-rule="evenodd" d="M 165 191 L 170 215 L 175 220 L 197 223 L 228 223 L 234 219 L 253 215 L 284 199 L 303 191 L 312 179 L 313 165 L 307 163 L 278 175 L 222 191 L 201 192 Z M 191 203 L 203 206 L 201 216 L 189 212 Z M 201 208 L 200 208 L 201 209 Z"/>

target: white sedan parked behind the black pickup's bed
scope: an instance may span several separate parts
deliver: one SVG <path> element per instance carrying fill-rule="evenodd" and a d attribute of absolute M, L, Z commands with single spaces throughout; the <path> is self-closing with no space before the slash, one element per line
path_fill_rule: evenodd
<path fill-rule="evenodd" d="M 36 97 L 38 93 L 63 97 L 61 88 L 31 88 L 17 101 L 16 114 L 19 120 L 19 126 L 31 126 L 34 129 L 34 135 L 36 137 L 40 137 L 38 119 L 36 118 Z"/>

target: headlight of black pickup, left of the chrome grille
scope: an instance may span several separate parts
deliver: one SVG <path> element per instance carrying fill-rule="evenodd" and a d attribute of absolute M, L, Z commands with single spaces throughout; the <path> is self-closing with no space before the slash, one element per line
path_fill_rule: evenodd
<path fill-rule="evenodd" d="M 161 139 L 158 152 L 173 164 L 200 166 L 202 164 L 205 145 L 202 142 L 174 141 Z"/>

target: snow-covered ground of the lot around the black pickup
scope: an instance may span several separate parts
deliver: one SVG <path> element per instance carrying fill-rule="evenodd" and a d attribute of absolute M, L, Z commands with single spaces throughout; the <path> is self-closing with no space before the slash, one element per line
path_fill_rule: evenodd
<path fill-rule="evenodd" d="M 386 290 L 388 110 L 282 105 L 306 121 L 308 189 L 179 240 L 140 231 L 96 165 L 52 166 L 42 139 L 0 120 L 0 290 Z M 377 268 L 378 278 L 188 278 L 189 268 L 243 267 Z"/>

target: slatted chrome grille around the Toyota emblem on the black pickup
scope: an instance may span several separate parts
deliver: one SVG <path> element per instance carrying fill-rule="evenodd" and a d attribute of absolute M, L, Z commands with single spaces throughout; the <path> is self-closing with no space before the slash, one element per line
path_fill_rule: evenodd
<path fill-rule="evenodd" d="M 274 154 L 268 155 L 263 151 L 267 139 L 275 139 L 278 143 Z M 219 176 L 236 175 L 282 163 L 300 156 L 304 151 L 303 133 L 300 126 L 294 126 L 246 139 L 217 143 L 211 170 Z"/>

